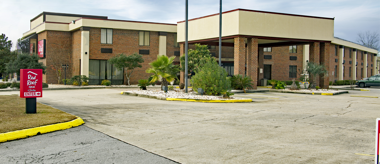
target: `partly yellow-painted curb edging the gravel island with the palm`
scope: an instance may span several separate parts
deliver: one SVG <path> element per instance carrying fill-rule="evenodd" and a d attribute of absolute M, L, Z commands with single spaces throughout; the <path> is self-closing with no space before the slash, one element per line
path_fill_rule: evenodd
<path fill-rule="evenodd" d="M 139 96 L 139 97 L 146 97 L 146 98 L 155 98 L 158 100 L 184 101 L 184 102 L 206 102 L 206 103 L 252 102 L 252 99 L 246 99 L 246 100 L 203 100 L 203 99 L 192 99 L 192 98 L 166 98 L 166 97 L 151 96 L 151 95 L 144 95 L 144 94 L 135 94 L 135 93 L 130 93 L 130 92 L 122 92 L 122 94 Z"/>

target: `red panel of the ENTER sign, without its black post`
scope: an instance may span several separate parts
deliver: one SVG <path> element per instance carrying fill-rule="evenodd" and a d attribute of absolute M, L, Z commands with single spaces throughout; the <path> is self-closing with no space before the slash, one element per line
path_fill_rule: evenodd
<path fill-rule="evenodd" d="M 20 97 L 42 97 L 42 69 L 20 69 Z"/>

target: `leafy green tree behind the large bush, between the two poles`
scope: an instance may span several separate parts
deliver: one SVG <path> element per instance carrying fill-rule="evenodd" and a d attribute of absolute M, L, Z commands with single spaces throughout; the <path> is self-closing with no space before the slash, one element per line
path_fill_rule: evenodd
<path fill-rule="evenodd" d="M 187 70 L 194 70 L 198 72 L 201 67 L 204 66 L 206 60 L 211 58 L 210 51 L 207 49 L 207 45 L 195 44 L 195 50 L 189 49 L 187 52 Z M 180 70 L 185 71 L 185 55 L 179 57 Z M 187 72 L 187 74 L 190 72 Z"/>

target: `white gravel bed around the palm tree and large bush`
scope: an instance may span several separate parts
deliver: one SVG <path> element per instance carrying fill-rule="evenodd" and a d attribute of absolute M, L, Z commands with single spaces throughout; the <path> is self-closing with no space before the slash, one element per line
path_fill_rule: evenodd
<path fill-rule="evenodd" d="M 136 90 L 136 91 L 123 91 L 130 92 L 135 94 L 144 94 L 158 97 L 167 97 L 167 98 L 191 98 L 191 99 L 203 99 L 203 100 L 228 100 L 220 96 L 209 96 L 209 95 L 196 95 L 196 92 L 188 91 L 188 94 L 185 94 L 184 90 L 171 90 L 165 93 L 164 91 L 154 91 L 154 90 Z M 231 97 L 230 100 L 247 100 L 250 98 L 240 98 L 240 97 Z"/>

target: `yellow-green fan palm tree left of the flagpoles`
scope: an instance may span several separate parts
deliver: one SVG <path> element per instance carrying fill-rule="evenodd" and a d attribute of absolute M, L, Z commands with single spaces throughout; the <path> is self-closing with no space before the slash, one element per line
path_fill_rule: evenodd
<path fill-rule="evenodd" d="M 157 60 L 149 64 L 152 67 L 146 70 L 147 73 L 153 73 L 150 82 L 161 81 L 162 89 L 162 86 L 168 86 L 169 81 L 177 79 L 179 68 L 173 64 L 174 58 L 175 56 L 168 58 L 166 55 L 158 55 Z"/>

